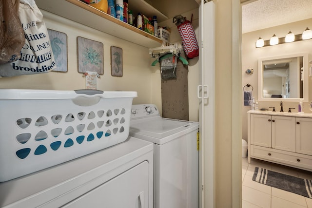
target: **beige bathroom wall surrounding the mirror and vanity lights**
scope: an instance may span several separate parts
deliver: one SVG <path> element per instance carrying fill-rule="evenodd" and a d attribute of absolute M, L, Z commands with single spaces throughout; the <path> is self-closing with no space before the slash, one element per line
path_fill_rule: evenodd
<path fill-rule="evenodd" d="M 293 34 L 301 34 L 306 27 L 312 27 L 312 19 L 306 19 L 290 24 L 280 25 L 272 28 L 258 30 L 250 33 L 243 34 L 242 36 L 242 88 L 250 83 L 253 87 L 253 96 L 255 99 L 258 97 L 258 58 L 276 57 L 298 53 L 309 53 L 309 60 L 312 57 L 312 39 L 285 43 L 280 45 L 267 46 L 262 48 L 255 48 L 255 41 L 259 38 L 264 40 L 270 39 L 273 34 L 278 37 L 285 37 L 291 30 Z M 311 65 L 309 65 L 311 67 Z M 253 75 L 247 75 L 245 71 L 248 68 L 254 69 Z M 309 77 L 309 97 L 312 98 L 312 80 Z M 259 108 L 275 107 L 276 111 L 280 109 L 280 101 L 268 102 L 259 101 Z M 311 113 L 308 108 L 308 103 L 304 103 L 305 112 Z M 284 102 L 283 109 L 295 108 L 293 112 L 298 111 L 298 102 Z M 247 111 L 251 110 L 250 106 L 242 104 L 243 112 L 243 138 L 247 141 Z"/>

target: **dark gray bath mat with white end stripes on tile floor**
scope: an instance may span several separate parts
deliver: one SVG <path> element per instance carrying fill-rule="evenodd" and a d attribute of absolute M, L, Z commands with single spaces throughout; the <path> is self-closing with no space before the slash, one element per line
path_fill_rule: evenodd
<path fill-rule="evenodd" d="M 253 181 L 312 198 L 312 180 L 256 167 Z"/>

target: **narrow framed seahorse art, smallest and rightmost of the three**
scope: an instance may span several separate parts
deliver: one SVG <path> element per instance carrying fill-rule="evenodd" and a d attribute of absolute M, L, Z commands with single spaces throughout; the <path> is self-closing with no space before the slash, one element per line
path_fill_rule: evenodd
<path fill-rule="evenodd" d="M 112 76 L 122 76 L 122 49 L 111 46 Z"/>

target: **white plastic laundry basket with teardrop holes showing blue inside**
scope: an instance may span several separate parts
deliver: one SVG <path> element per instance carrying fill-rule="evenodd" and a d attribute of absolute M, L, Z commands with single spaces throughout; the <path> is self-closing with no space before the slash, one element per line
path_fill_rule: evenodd
<path fill-rule="evenodd" d="M 137 92 L 0 90 L 0 182 L 123 142 Z"/>

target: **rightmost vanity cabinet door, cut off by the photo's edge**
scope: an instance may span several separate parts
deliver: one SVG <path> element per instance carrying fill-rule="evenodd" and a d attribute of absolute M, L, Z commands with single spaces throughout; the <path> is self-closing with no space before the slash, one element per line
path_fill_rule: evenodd
<path fill-rule="evenodd" d="M 296 151 L 312 155 L 312 118 L 296 118 Z"/>

